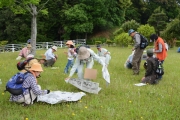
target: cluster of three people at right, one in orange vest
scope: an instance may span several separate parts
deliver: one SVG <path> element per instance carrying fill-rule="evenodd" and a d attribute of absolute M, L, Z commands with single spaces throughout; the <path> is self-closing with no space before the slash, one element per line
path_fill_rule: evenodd
<path fill-rule="evenodd" d="M 128 34 L 133 38 L 135 43 L 132 49 L 132 51 L 134 51 L 134 54 L 131 56 L 132 59 L 131 66 L 132 66 L 133 75 L 139 75 L 141 58 L 144 49 L 140 49 L 141 38 L 138 32 L 136 32 L 133 29 L 130 29 L 128 31 Z M 156 34 L 152 34 L 150 36 L 150 41 L 154 42 L 154 49 L 147 50 L 146 72 L 144 77 L 141 79 L 141 82 L 154 84 L 156 83 L 155 81 L 162 79 L 162 75 L 160 76 L 156 75 L 154 69 L 154 66 L 156 65 L 155 65 L 155 59 L 153 59 L 154 58 L 153 55 L 155 54 L 155 57 L 163 64 L 165 58 L 167 57 L 167 48 L 164 40 Z"/>

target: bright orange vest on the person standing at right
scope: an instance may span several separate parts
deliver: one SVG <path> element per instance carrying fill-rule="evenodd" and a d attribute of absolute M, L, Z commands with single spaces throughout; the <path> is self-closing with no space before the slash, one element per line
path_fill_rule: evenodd
<path fill-rule="evenodd" d="M 162 44 L 162 52 L 157 52 L 156 57 L 162 61 L 162 60 L 165 60 L 165 58 L 167 56 L 167 52 L 166 52 L 164 40 L 160 37 L 158 37 L 158 39 L 155 42 L 155 50 L 159 50 L 159 43 Z"/>

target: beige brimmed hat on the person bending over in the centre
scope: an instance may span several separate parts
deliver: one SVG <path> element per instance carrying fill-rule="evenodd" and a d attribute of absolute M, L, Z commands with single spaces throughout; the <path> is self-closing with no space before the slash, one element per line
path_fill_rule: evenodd
<path fill-rule="evenodd" d="M 90 56 L 90 52 L 86 47 L 80 47 L 78 52 L 79 59 L 87 59 Z"/>

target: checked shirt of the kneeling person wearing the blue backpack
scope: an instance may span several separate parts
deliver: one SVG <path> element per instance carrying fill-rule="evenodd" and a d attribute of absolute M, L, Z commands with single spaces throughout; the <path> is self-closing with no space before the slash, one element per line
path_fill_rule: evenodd
<path fill-rule="evenodd" d="M 27 74 L 27 77 L 25 78 L 22 86 L 23 86 L 23 88 L 30 88 L 32 90 L 32 92 L 37 96 L 47 94 L 47 90 L 39 89 L 37 82 L 36 82 L 36 78 L 31 73 Z M 17 101 L 17 100 L 21 99 L 22 97 L 24 97 L 23 95 L 27 95 L 27 94 L 29 94 L 28 89 L 26 89 L 24 91 L 24 93 L 21 95 L 12 95 L 11 94 L 10 101 Z"/>

